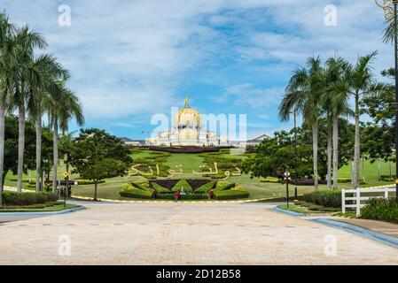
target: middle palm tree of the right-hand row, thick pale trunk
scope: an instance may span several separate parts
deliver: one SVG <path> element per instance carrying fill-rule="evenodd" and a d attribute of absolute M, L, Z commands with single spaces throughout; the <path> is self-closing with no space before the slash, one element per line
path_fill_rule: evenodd
<path fill-rule="evenodd" d="M 347 93 L 348 63 L 338 57 L 326 61 L 326 80 L 329 83 L 326 95 L 323 96 L 324 108 L 328 109 L 332 119 L 332 169 L 333 189 L 338 189 L 339 171 L 339 118 L 352 114 L 349 108 L 349 94 Z"/>

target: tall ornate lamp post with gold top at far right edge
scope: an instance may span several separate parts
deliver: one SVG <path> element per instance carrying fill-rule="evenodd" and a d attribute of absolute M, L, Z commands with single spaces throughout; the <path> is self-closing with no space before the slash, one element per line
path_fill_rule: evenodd
<path fill-rule="evenodd" d="M 397 4 L 398 0 L 382 0 L 375 3 L 383 9 L 386 20 L 394 25 L 394 68 L 395 68 L 395 160 L 398 161 L 398 34 L 397 34 Z M 395 198 L 398 201 L 398 166 L 395 171 Z"/>

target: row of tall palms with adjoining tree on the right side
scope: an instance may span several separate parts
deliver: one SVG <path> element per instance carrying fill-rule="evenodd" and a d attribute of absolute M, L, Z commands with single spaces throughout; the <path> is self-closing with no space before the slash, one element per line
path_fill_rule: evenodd
<path fill-rule="evenodd" d="M 328 187 L 338 188 L 339 170 L 339 124 L 341 120 L 354 117 L 354 186 L 360 182 L 361 158 L 361 105 L 363 111 L 370 114 L 373 121 L 368 123 L 366 131 L 370 135 L 380 131 L 380 123 L 388 128 L 391 119 L 380 114 L 377 108 L 380 101 L 389 103 L 394 97 L 394 87 L 387 83 L 376 81 L 372 72 L 372 62 L 377 52 L 358 57 L 355 65 L 347 62 L 342 57 L 331 57 L 323 65 L 320 57 L 308 58 L 307 66 L 298 68 L 286 88 L 285 96 L 279 106 L 279 117 L 288 120 L 292 112 L 301 115 L 303 127 L 312 130 L 313 148 L 313 176 L 315 187 L 318 187 L 318 132 L 319 126 L 326 126 L 327 131 L 327 173 Z M 354 103 L 352 103 L 354 102 Z M 351 106 L 353 104 L 353 106 Z M 386 105 L 386 104 L 385 104 Z M 394 104 L 392 104 L 394 106 Z M 369 107 L 367 107 L 369 106 Z M 373 126 L 373 130 L 371 127 Z M 369 133 L 370 132 L 370 133 Z M 386 137 L 386 136 L 385 136 Z M 393 141 L 394 142 L 394 139 Z M 372 146 L 368 143 L 367 151 Z M 391 157 L 393 145 L 385 142 L 385 156 Z M 374 154 L 373 154 L 374 156 Z"/>

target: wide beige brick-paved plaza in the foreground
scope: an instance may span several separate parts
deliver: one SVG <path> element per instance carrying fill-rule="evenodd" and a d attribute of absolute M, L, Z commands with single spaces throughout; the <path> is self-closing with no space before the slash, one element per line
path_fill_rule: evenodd
<path fill-rule="evenodd" d="M 398 249 L 263 203 L 85 206 L 0 224 L 0 264 L 398 264 Z"/>

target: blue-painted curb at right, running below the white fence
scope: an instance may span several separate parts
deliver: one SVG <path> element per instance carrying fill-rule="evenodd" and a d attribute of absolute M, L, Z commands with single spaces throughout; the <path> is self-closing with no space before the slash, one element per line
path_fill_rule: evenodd
<path fill-rule="evenodd" d="M 386 235 L 385 233 L 377 233 L 374 231 L 371 231 L 369 229 L 365 229 L 360 226 L 355 226 L 352 224 L 347 224 L 343 222 L 339 222 L 337 220 L 332 220 L 328 218 L 318 218 L 318 219 L 311 219 L 310 221 L 319 223 L 319 224 L 324 224 L 326 226 L 331 226 L 334 228 L 338 228 L 344 231 L 347 231 L 349 233 L 355 233 L 357 235 L 363 236 L 365 238 L 382 242 L 390 247 L 393 247 L 395 249 L 398 249 L 398 238 Z"/>

